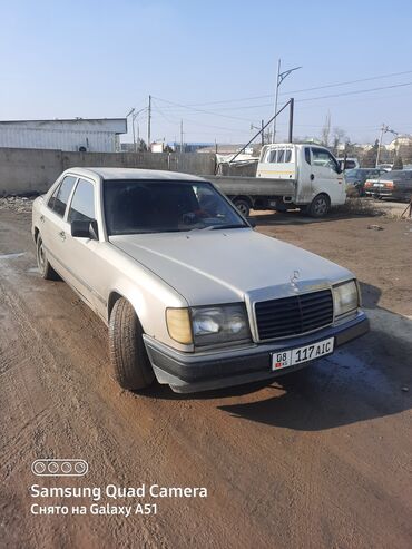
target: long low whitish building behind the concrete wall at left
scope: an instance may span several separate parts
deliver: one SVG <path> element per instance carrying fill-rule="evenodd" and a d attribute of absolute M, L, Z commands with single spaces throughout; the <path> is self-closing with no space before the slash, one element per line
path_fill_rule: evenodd
<path fill-rule="evenodd" d="M 118 153 L 126 118 L 0 121 L 0 147 Z"/>

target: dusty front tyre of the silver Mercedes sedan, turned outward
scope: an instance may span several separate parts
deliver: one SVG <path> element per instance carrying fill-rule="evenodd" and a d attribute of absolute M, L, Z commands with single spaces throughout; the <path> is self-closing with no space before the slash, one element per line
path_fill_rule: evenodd
<path fill-rule="evenodd" d="M 114 305 L 109 323 L 112 374 L 122 389 L 145 389 L 155 379 L 134 307 L 124 297 Z"/>

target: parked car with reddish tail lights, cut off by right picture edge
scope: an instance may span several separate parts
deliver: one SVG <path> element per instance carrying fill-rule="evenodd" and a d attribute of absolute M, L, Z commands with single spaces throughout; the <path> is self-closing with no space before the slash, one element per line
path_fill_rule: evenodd
<path fill-rule="evenodd" d="M 365 194 L 375 198 L 409 202 L 412 197 L 412 170 L 392 170 L 377 179 L 367 179 Z"/>

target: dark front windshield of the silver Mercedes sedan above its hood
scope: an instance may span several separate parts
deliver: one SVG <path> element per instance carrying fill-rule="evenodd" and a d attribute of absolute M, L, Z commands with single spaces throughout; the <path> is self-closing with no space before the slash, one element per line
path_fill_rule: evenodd
<path fill-rule="evenodd" d="M 248 226 L 206 182 L 105 180 L 104 204 L 109 236 Z"/>

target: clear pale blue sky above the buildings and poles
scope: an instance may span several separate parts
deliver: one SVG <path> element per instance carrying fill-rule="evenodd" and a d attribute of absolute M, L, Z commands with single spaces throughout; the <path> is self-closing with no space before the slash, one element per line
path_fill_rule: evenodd
<path fill-rule="evenodd" d="M 186 141 L 245 143 L 273 114 L 281 58 L 302 66 L 279 96 L 296 135 L 327 112 L 357 143 L 382 122 L 412 133 L 411 0 L 0 2 L 2 120 L 124 117 L 150 94 L 153 139 L 179 139 L 183 120 Z"/>

